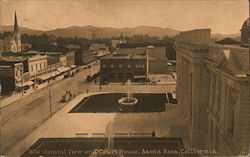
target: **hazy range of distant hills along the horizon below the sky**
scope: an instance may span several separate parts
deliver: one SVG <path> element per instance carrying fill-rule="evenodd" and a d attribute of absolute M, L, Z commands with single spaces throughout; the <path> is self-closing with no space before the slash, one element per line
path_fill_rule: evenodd
<path fill-rule="evenodd" d="M 148 34 L 149 36 L 175 36 L 179 33 L 178 30 L 170 29 L 170 28 L 160 28 L 160 27 L 152 27 L 152 26 L 137 26 L 131 28 L 112 28 L 112 27 L 95 27 L 95 26 L 71 26 L 67 28 L 58 28 L 50 31 L 40 31 L 33 30 L 25 27 L 20 27 L 20 32 L 27 34 L 36 34 L 40 35 L 42 33 L 46 33 L 48 35 L 54 35 L 56 37 L 84 37 L 84 38 L 92 38 L 92 34 L 94 33 L 96 37 L 118 37 L 123 33 L 125 36 L 132 36 L 134 34 Z M 3 31 L 13 31 L 13 26 L 0 26 L 0 32 Z"/>

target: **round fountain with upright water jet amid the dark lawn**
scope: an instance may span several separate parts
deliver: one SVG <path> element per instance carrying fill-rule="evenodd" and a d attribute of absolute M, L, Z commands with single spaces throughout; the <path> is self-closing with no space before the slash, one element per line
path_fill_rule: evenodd
<path fill-rule="evenodd" d="M 133 93 L 131 92 L 131 82 L 130 80 L 127 81 L 127 86 L 128 86 L 128 92 L 127 92 L 127 97 L 122 97 L 118 100 L 119 104 L 122 105 L 135 105 L 138 103 L 138 99 L 133 97 Z"/>

